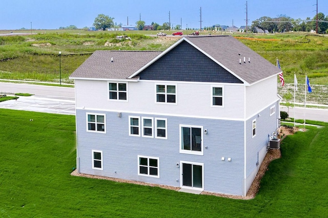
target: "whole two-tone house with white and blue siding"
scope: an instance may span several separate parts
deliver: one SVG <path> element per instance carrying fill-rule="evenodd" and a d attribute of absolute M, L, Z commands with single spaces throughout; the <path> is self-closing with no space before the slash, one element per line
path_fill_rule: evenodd
<path fill-rule="evenodd" d="M 232 36 L 96 51 L 70 76 L 77 170 L 245 196 L 278 127 L 279 73 Z"/>

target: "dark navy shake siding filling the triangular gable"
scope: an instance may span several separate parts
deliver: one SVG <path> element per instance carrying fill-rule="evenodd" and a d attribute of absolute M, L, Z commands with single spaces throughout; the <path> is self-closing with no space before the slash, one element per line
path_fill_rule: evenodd
<path fill-rule="evenodd" d="M 242 83 L 186 41 L 181 42 L 138 76 L 145 80 Z"/>

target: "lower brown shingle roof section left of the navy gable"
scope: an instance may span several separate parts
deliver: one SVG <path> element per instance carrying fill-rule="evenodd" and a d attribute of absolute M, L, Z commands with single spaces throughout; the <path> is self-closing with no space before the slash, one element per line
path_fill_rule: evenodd
<path fill-rule="evenodd" d="M 126 79 L 160 53 L 158 51 L 95 51 L 70 77 Z M 112 58 L 113 62 L 111 62 Z"/>

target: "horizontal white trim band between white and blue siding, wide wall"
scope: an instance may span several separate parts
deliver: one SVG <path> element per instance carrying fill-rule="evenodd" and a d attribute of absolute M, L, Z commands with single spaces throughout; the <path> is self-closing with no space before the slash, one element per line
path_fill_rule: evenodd
<path fill-rule="evenodd" d="M 189 114 L 170 114 L 170 113 L 163 113 L 163 114 L 157 114 L 155 112 L 140 112 L 140 111 L 126 111 L 121 110 L 117 111 L 115 110 L 108 110 L 105 108 L 94 108 L 94 107 L 77 107 L 76 110 L 84 110 L 84 111 L 103 111 L 103 112 L 115 112 L 115 113 L 128 113 L 128 114 L 147 114 L 149 116 L 166 116 L 166 117 L 187 117 L 187 118 L 200 118 L 200 119 L 211 119 L 211 120 L 232 120 L 232 121 L 245 121 L 244 119 L 234 119 L 234 118 L 222 118 L 222 117 L 208 117 L 208 116 L 190 116 Z M 258 114 L 258 113 L 257 113 Z"/>

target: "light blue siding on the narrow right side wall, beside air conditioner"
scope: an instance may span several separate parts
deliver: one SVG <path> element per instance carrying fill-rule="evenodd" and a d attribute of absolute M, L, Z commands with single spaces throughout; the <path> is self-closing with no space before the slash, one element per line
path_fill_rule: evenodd
<path fill-rule="evenodd" d="M 275 113 L 270 116 L 270 108 L 275 106 Z M 277 129 L 277 119 L 280 117 L 279 101 L 276 101 L 255 116 L 248 119 L 245 123 L 245 189 L 250 188 L 256 173 L 267 154 L 269 137 Z M 258 116 L 260 115 L 260 116 Z M 256 119 L 256 135 L 253 137 L 252 122 Z"/>

